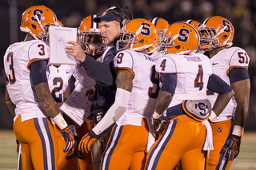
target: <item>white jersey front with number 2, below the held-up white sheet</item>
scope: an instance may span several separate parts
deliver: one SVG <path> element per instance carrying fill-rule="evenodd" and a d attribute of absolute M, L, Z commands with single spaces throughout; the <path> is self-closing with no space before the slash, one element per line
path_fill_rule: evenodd
<path fill-rule="evenodd" d="M 69 80 L 74 73 L 75 65 L 47 65 L 48 85 L 58 108 L 64 102 L 64 92 L 69 86 Z"/>

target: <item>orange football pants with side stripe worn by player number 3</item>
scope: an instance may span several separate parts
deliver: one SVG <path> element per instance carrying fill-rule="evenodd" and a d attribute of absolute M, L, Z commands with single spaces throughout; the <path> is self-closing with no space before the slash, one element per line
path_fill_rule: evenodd
<path fill-rule="evenodd" d="M 14 121 L 14 133 L 22 146 L 22 170 L 56 170 L 58 141 L 46 118 Z"/>

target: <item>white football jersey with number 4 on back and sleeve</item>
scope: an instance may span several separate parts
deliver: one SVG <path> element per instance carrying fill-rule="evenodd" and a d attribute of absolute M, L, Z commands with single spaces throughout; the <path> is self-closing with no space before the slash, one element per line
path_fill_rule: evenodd
<path fill-rule="evenodd" d="M 184 100 L 206 99 L 208 79 L 212 74 L 210 59 L 201 53 L 190 55 L 166 54 L 159 57 L 158 73 L 176 73 L 177 86 L 168 108 Z"/>

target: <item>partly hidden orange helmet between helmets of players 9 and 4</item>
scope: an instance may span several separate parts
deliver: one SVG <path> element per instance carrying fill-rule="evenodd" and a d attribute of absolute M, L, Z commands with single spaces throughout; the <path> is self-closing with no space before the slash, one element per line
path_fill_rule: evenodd
<path fill-rule="evenodd" d="M 162 36 L 162 33 L 168 29 L 168 27 L 170 26 L 170 23 L 167 22 L 164 18 L 152 18 L 150 19 L 150 22 L 152 22 L 158 30 L 158 42 L 159 42 Z M 157 45 L 155 45 L 154 47 L 150 47 L 149 53 L 154 53 L 156 51 L 157 51 Z"/>

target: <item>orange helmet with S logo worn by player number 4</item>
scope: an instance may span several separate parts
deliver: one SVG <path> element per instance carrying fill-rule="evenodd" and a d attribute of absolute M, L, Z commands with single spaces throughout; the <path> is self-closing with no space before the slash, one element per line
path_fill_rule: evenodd
<path fill-rule="evenodd" d="M 160 39 L 159 46 L 166 53 L 189 54 L 197 50 L 199 34 L 186 22 L 174 22 Z"/>

